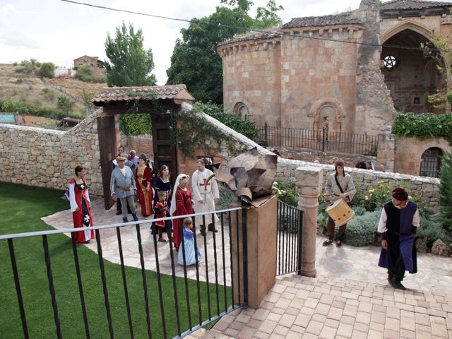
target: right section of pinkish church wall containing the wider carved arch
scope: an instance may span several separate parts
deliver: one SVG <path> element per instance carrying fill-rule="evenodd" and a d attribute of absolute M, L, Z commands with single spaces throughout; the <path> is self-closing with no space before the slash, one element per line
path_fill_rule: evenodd
<path fill-rule="evenodd" d="M 348 119 L 355 113 L 355 44 L 303 39 L 299 35 L 359 40 L 356 28 L 321 28 L 314 32 L 285 32 L 281 42 L 282 126 L 354 133 Z M 292 34 L 292 36 L 290 36 Z"/>

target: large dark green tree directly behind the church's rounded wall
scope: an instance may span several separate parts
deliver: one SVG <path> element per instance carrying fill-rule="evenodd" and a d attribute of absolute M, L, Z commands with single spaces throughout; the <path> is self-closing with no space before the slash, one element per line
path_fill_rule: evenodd
<path fill-rule="evenodd" d="M 283 9 L 275 0 L 258 7 L 256 18 L 249 16 L 253 3 L 249 0 L 221 0 L 215 13 L 194 18 L 177 39 L 167 69 L 167 84 L 184 83 L 196 100 L 222 103 L 222 61 L 215 46 L 243 34 L 249 28 L 268 28 L 282 22 L 277 12 Z"/>

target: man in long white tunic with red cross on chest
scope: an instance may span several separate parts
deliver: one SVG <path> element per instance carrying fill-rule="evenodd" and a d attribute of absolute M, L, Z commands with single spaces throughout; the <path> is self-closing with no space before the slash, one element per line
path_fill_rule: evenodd
<path fill-rule="evenodd" d="M 195 213 L 203 212 L 215 212 L 215 203 L 220 200 L 220 193 L 218 192 L 218 186 L 213 172 L 206 168 L 206 162 L 204 159 L 196 160 L 198 169 L 191 177 L 191 188 L 194 194 L 194 210 Z M 208 214 L 205 217 L 208 230 L 212 232 L 218 232 L 215 229 L 215 225 L 212 221 L 212 214 Z M 213 213 L 215 222 L 218 222 L 218 216 Z M 201 234 L 206 234 L 206 225 L 203 224 L 203 216 L 197 215 L 195 218 L 196 224 L 201 226 Z"/>

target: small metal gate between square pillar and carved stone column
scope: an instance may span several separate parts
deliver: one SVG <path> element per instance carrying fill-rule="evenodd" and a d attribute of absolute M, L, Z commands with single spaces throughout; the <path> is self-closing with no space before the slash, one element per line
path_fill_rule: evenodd
<path fill-rule="evenodd" d="M 302 269 L 303 212 L 294 206 L 278 201 L 277 222 L 277 275 Z"/>

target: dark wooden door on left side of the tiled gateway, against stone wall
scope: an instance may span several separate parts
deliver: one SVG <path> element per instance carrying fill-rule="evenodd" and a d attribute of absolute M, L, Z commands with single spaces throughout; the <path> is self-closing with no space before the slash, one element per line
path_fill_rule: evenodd
<path fill-rule="evenodd" d="M 113 172 L 114 156 L 116 155 L 116 132 L 114 127 L 114 116 L 97 118 L 97 135 L 99 136 L 100 167 L 102 169 L 102 188 L 104 190 L 105 208 L 108 210 L 113 206 L 110 192 L 110 177 Z"/>

